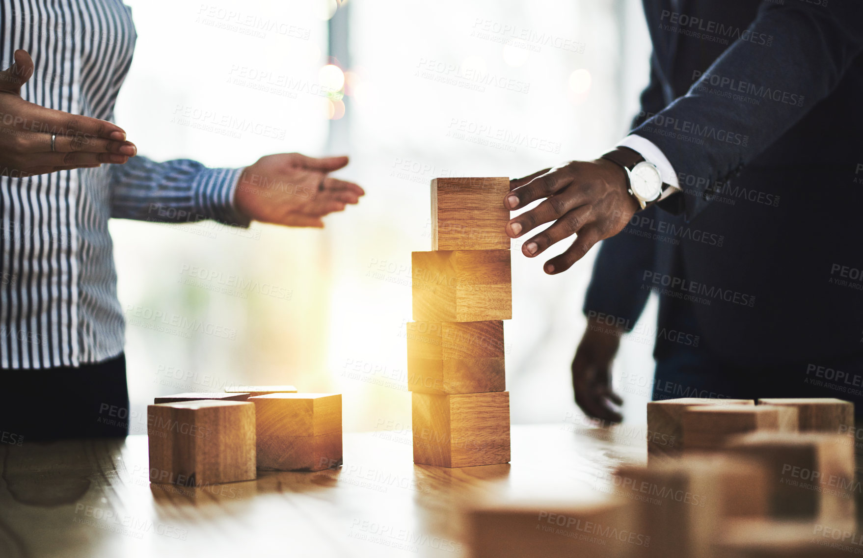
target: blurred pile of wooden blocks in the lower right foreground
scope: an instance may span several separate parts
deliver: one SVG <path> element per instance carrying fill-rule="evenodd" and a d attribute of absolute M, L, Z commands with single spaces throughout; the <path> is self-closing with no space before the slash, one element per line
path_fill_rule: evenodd
<path fill-rule="evenodd" d="M 647 404 L 647 423 L 647 466 L 619 467 L 604 504 L 477 505 L 476 558 L 857 553 L 854 404 L 668 399 Z"/>

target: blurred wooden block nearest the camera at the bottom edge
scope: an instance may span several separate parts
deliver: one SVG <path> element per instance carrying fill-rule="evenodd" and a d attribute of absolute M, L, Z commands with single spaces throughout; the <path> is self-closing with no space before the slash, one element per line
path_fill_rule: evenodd
<path fill-rule="evenodd" d="M 467 523 L 473 558 L 634 558 L 652 545 L 618 499 L 482 502 Z"/>

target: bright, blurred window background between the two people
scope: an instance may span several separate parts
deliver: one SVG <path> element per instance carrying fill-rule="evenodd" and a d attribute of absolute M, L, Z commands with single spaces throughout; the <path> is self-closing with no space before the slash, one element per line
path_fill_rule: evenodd
<path fill-rule="evenodd" d="M 117 123 L 140 154 L 246 166 L 346 153 L 336 176 L 367 191 L 324 230 L 112 221 L 136 417 L 158 394 L 293 384 L 342 392 L 347 431 L 409 428 L 405 323 L 411 252 L 431 249 L 429 181 L 595 158 L 626 133 L 648 75 L 638 0 L 126 2 L 138 40 Z M 549 277 L 513 242 L 513 423 L 581 421 L 570 361 L 595 253 Z M 651 353 L 649 335 L 621 342 L 627 421 L 645 422 Z"/>

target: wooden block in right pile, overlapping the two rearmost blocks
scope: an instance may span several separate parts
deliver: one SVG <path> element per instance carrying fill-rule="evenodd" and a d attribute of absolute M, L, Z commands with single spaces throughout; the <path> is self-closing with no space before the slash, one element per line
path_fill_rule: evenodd
<path fill-rule="evenodd" d="M 681 431 L 683 452 L 721 449 L 728 436 L 756 430 L 779 431 L 779 415 L 792 411 L 777 407 L 727 405 L 692 405 L 683 410 Z M 793 411 L 792 411 L 793 412 Z M 785 417 L 787 419 L 787 417 Z"/>

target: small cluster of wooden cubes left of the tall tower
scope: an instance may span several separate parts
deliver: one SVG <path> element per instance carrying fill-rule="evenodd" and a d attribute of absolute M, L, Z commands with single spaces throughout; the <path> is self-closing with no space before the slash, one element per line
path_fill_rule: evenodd
<path fill-rule="evenodd" d="M 293 386 L 178 393 L 148 405 L 150 481 L 202 486 L 342 463 L 342 396 Z"/>

